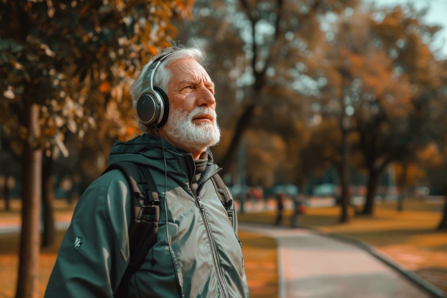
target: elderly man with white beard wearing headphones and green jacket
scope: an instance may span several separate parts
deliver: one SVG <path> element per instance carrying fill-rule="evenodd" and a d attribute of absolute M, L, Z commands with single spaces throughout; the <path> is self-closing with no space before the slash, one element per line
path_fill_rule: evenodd
<path fill-rule="evenodd" d="M 131 94 L 145 133 L 116 141 L 80 197 L 45 297 L 248 297 L 236 212 L 208 149 L 220 130 L 203 58 L 171 47 L 140 71 Z"/>

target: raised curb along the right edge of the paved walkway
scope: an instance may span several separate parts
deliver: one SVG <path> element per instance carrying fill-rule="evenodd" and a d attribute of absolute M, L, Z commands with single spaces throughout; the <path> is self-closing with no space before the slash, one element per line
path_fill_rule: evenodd
<path fill-rule="evenodd" d="M 422 277 L 418 276 L 416 273 L 413 273 L 406 269 L 402 264 L 399 264 L 396 260 L 392 259 L 390 256 L 387 256 L 384 252 L 381 252 L 371 244 L 364 242 L 363 240 L 355 239 L 350 236 L 346 236 L 338 233 L 325 233 L 317 230 L 313 227 L 303 227 L 308 230 L 312 230 L 318 235 L 322 235 L 325 237 L 333 238 L 339 241 L 343 241 L 346 243 L 350 243 L 366 252 L 374 256 L 377 260 L 380 260 L 384 264 L 388 265 L 392 269 L 394 269 L 397 273 L 400 273 L 407 280 L 417 285 L 420 289 L 425 290 L 428 294 L 435 298 L 447 298 L 447 294 L 439 289 L 438 287 L 430 284 L 428 281 L 424 280 Z"/>

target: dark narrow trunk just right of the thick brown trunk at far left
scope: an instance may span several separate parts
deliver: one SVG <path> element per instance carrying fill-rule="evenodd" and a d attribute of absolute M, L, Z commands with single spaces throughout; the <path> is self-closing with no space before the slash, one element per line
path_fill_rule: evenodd
<path fill-rule="evenodd" d="M 50 246 L 55 239 L 55 219 L 54 219 L 54 184 L 53 157 L 45 158 L 42 168 L 42 205 L 43 205 L 43 233 L 42 247 Z"/>

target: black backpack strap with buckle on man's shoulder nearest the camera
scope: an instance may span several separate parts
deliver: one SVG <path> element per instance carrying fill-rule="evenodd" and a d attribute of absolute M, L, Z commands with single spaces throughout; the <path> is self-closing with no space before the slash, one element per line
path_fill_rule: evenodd
<path fill-rule="evenodd" d="M 160 199 L 155 181 L 147 166 L 132 162 L 119 162 L 110 165 L 102 174 L 118 169 L 124 176 L 132 194 L 131 225 L 129 227 L 130 260 L 114 297 L 125 295 L 128 278 L 143 264 L 148 251 L 157 238 L 160 220 Z"/>

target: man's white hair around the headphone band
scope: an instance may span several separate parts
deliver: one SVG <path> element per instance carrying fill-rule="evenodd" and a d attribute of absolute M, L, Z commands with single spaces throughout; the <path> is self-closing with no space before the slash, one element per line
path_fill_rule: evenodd
<path fill-rule="evenodd" d="M 163 62 L 157 67 L 157 71 L 154 77 L 154 86 L 161 88 L 161 90 L 163 90 L 166 94 L 168 94 L 167 89 L 169 80 L 171 80 L 172 78 L 172 72 L 167 68 L 169 64 L 185 58 L 194 58 L 199 64 L 202 64 L 203 60 L 205 59 L 205 52 L 199 49 L 197 46 L 191 46 L 186 48 L 185 46 L 178 45 L 178 46 L 171 46 L 169 48 L 161 50 L 155 57 L 153 57 L 153 59 L 149 63 L 141 67 L 137 77 L 135 78 L 135 81 L 131 85 L 130 91 L 132 96 L 132 107 L 134 108 L 135 113 L 136 113 L 136 104 L 138 96 L 143 88 L 144 73 L 155 59 L 157 59 L 162 55 L 170 53 L 174 54 L 170 55 L 169 57 L 163 60 Z M 144 132 L 148 132 L 149 130 L 148 126 L 143 124 L 139 120 L 138 116 L 136 118 L 140 129 L 143 130 Z"/>

